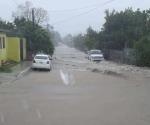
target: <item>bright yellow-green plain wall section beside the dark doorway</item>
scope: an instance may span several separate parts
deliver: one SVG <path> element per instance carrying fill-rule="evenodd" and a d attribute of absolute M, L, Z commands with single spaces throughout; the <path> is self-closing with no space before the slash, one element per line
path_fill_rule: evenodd
<path fill-rule="evenodd" d="M 7 37 L 7 59 L 20 62 L 20 38 Z"/>

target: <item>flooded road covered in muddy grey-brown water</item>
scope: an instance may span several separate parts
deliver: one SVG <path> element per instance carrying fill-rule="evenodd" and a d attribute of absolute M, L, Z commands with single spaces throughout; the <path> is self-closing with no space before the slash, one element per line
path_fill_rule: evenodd
<path fill-rule="evenodd" d="M 149 79 L 93 73 L 84 56 L 59 46 L 51 72 L 0 85 L 0 125 L 150 125 Z"/>

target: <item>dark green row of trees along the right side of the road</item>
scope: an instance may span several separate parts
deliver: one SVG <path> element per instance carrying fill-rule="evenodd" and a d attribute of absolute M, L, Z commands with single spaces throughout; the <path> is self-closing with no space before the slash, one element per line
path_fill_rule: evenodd
<path fill-rule="evenodd" d="M 137 65 L 150 66 L 150 9 L 106 10 L 99 32 L 89 27 L 86 34 L 72 36 L 72 43 L 82 51 L 131 48 L 135 50 Z"/>

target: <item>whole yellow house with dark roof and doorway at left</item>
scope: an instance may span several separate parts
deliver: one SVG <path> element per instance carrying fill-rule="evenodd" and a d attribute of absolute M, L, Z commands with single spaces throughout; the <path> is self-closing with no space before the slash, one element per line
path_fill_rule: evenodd
<path fill-rule="evenodd" d="M 26 39 L 8 30 L 0 29 L 0 65 L 8 60 L 26 59 Z"/>

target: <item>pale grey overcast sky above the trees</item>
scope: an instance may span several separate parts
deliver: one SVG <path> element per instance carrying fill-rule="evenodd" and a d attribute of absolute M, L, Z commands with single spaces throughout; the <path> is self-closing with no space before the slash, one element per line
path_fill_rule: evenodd
<path fill-rule="evenodd" d="M 1 0 L 0 17 L 4 20 L 12 20 L 12 11 L 18 4 L 26 0 Z M 59 31 L 62 36 L 71 33 L 84 33 L 91 26 L 100 30 L 104 20 L 106 9 L 124 10 L 127 7 L 133 9 L 150 8 L 150 0 L 28 0 L 35 7 L 43 7 L 49 13 L 49 23 Z"/>

